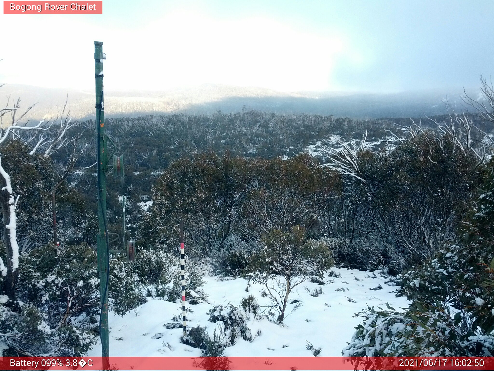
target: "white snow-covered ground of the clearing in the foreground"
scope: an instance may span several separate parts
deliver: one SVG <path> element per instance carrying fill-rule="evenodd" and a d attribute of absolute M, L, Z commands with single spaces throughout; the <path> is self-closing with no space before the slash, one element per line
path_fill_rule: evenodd
<path fill-rule="evenodd" d="M 304 282 L 296 287 L 289 297 L 289 302 L 300 300 L 302 306 L 286 317 L 283 325 L 269 322 L 267 319 L 248 321 L 252 336 L 260 330 L 260 335 L 247 342 L 238 338 L 235 345 L 227 347 L 225 356 L 311 356 L 307 350 L 307 342 L 314 347 L 322 347 L 321 356 L 341 356 L 341 350 L 350 341 L 354 327 L 361 318 L 354 317 L 356 312 L 367 305 L 386 308 L 386 303 L 399 310 L 406 307 L 405 297 L 396 297 L 397 286 L 389 285 L 389 278 L 375 272 L 337 269 L 332 271 L 341 278 L 324 275 L 326 284 Z M 212 335 L 213 329 L 221 323 L 208 322 L 207 312 L 214 305 L 229 303 L 240 307 L 242 298 L 256 296 L 259 305 L 268 304 L 269 299 L 261 297 L 260 284 L 252 284 L 247 288 L 247 279 L 224 279 L 206 277 L 203 291 L 208 303 L 189 305 L 192 313 L 188 313 L 190 327 L 207 326 Z M 322 288 L 324 293 L 319 297 L 311 296 L 310 291 Z M 381 289 L 372 290 L 372 288 Z M 344 290 L 343 290 L 344 289 Z M 288 304 L 293 308 L 295 304 Z M 172 317 L 181 315 L 181 304 L 164 300 L 149 300 L 135 310 L 129 311 L 124 317 L 110 312 L 110 353 L 112 356 L 186 356 L 201 355 L 201 350 L 180 343 L 182 329 L 167 329 L 165 324 L 174 322 Z M 88 356 L 100 356 L 101 344 L 97 343 Z"/>

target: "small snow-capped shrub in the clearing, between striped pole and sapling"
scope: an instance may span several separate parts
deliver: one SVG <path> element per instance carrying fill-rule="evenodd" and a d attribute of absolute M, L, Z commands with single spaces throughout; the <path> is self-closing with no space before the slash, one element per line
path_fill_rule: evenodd
<path fill-rule="evenodd" d="M 228 340 L 229 345 L 234 345 L 237 337 L 242 337 L 246 341 L 252 341 L 250 329 L 247 327 L 246 313 L 232 304 L 227 306 L 216 305 L 208 312 L 209 322 L 223 323 L 223 335 Z"/>

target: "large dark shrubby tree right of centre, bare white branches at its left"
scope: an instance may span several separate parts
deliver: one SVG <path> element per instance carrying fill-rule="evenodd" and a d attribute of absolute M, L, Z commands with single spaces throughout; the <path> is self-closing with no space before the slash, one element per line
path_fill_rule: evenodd
<path fill-rule="evenodd" d="M 338 171 L 350 183 L 350 193 L 360 198 L 355 238 L 372 237 L 408 264 L 419 264 L 454 238 L 478 182 L 478 160 L 448 135 L 422 130 L 392 150 L 361 145 L 332 152 L 327 167 Z"/>

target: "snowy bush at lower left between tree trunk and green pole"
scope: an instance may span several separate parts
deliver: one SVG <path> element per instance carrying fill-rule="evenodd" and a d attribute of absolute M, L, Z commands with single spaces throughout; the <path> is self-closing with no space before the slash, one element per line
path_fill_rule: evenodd
<path fill-rule="evenodd" d="M 95 342 L 96 253 L 86 244 L 35 247 L 21 255 L 18 312 L 0 304 L 0 343 L 10 355 L 78 356 Z"/>

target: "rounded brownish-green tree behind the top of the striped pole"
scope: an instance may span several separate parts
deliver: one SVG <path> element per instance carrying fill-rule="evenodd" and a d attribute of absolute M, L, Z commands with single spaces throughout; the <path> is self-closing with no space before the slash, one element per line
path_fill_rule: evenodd
<path fill-rule="evenodd" d="M 140 224 L 146 246 L 178 246 L 183 220 L 188 254 L 223 249 L 239 212 L 245 165 L 242 158 L 214 153 L 174 162 L 158 178 L 153 204 Z"/>

